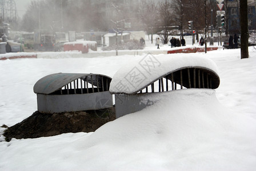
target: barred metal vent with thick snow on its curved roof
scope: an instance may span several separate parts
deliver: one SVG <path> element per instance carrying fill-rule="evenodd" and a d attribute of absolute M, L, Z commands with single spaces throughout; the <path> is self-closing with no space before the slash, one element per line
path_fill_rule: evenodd
<path fill-rule="evenodd" d="M 149 93 L 183 88 L 219 86 L 215 63 L 204 56 L 148 54 L 135 63 L 126 64 L 113 76 L 110 93 L 115 94 L 116 117 L 140 111 L 155 101 Z M 179 85 L 179 86 L 178 86 Z"/>

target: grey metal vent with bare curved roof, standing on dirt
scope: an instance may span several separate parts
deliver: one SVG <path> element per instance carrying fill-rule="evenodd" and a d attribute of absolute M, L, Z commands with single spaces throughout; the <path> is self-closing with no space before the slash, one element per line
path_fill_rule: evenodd
<path fill-rule="evenodd" d="M 34 85 L 41 113 L 75 112 L 110 108 L 111 78 L 99 74 L 57 73 L 47 75 Z"/>

